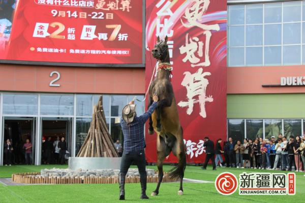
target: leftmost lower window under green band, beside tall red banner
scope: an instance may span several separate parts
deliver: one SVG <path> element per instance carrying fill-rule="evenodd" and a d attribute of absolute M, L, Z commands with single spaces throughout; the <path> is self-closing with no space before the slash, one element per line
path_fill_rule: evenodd
<path fill-rule="evenodd" d="M 245 120 L 243 119 L 228 119 L 228 138 L 234 141 L 245 139 Z"/>

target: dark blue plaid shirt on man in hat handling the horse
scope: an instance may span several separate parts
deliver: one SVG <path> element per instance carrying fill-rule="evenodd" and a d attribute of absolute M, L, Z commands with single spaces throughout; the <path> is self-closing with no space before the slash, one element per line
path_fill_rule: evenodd
<path fill-rule="evenodd" d="M 135 116 L 133 122 L 127 124 L 123 118 L 120 119 L 120 124 L 124 134 L 124 151 L 125 152 L 138 152 L 145 148 L 144 139 L 144 124 L 154 113 L 157 107 L 157 102 L 154 102 L 146 113 L 142 116 Z"/>

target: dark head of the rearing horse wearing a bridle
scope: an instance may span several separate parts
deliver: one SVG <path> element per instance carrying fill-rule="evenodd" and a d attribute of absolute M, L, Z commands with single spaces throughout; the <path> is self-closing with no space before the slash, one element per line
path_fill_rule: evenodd
<path fill-rule="evenodd" d="M 169 52 L 167 46 L 167 36 L 165 37 L 164 41 L 161 41 L 158 37 L 157 44 L 155 48 L 151 50 L 153 52 L 153 57 L 161 60 L 162 62 L 169 62 Z"/>

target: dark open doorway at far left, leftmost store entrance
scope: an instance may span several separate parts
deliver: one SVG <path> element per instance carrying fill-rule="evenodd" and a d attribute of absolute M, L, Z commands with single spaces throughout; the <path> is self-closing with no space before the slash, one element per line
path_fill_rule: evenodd
<path fill-rule="evenodd" d="M 4 117 L 4 164 L 25 164 L 25 153 L 31 153 L 27 156 L 27 164 L 34 164 L 35 160 L 35 132 L 36 118 L 33 117 Z M 24 144 L 28 139 L 32 148 L 25 150 Z M 6 148 L 7 140 L 11 142 L 11 148 Z"/>

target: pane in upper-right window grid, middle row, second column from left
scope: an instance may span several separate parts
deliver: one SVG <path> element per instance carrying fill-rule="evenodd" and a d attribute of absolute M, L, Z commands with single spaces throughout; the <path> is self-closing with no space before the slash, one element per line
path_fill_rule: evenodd
<path fill-rule="evenodd" d="M 263 44 L 263 26 L 246 26 L 246 46 L 257 46 Z"/>

